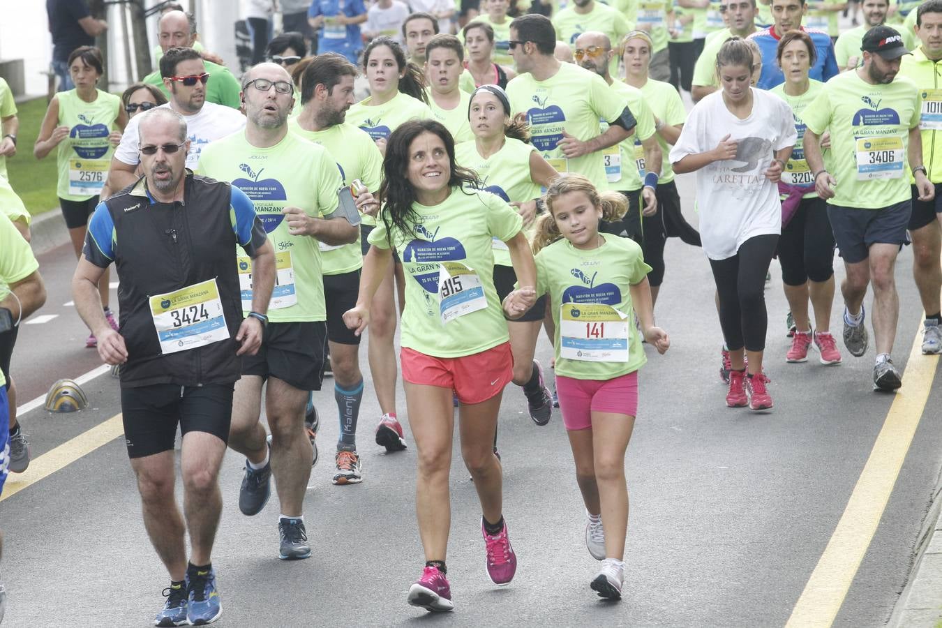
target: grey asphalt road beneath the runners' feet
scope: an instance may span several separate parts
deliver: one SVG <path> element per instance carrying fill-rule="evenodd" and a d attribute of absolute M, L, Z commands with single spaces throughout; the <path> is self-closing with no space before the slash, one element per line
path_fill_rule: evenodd
<path fill-rule="evenodd" d="M 695 224 L 692 185 L 692 178 L 681 177 Z M 373 443 L 379 411 L 365 368 L 361 485 L 330 483 L 338 430 L 330 379 L 317 394 L 321 461 L 305 503 L 310 559 L 278 560 L 276 500 L 251 519 L 239 513 L 243 460 L 233 452 L 226 456 L 213 556 L 223 605 L 218 625 L 783 625 L 847 505 L 893 396 L 871 391 L 872 348 L 861 359 L 845 351 L 836 367 L 785 362 L 787 306 L 773 263 L 766 370 L 775 408 L 767 414 L 727 409 L 707 260 L 677 240 L 669 242 L 666 256 L 656 314 L 673 346 L 666 356 L 645 347 L 650 362 L 642 369 L 639 418 L 626 460 L 631 515 L 621 604 L 601 602 L 589 589 L 597 563 L 583 542 L 583 507 L 559 414 L 547 427 L 534 426 L 523 395 L 510 387 L 499 445 L 516 577 L 505 588 L 486 577 L 477 497 L 456 450 L 447 556 L 456 610 L 432 617 L 408 606 L 406 591 L 423 564 L 414 523 L 414 447 L 407 436 L 409 450 L 385 455 Z M 71 250 L 53 250 L 41 264 L 50 298 L 39 314 L 59 315 L 21 330 L 13 359 L 21 405 L 56 378 L 76 377 L 99 363 L 84 348 L 86 332 L 77 316 L 63 305 L 71 300 Z M 836 266 L 840 278 L 838 260 Z M 894 360 L 900 368 L 920 323 L 911 267 L 906 249 L 897 273 L 901 316 Z M 840 311 L 836 304 L 838 334 Z M 550 355 L 542 338 L 537 356 L 545 364 Z M 365 362 L 365 350 L 361 356 Z M 936 374 L 836 625 L 884 624 L 909 576 L 940 468 L 940 381 Z M 40 408 L 22 417 L 34 457 L 120 411 L 116 380 L 93 379 L 86 392 L 87 411 L 50 415 Z M 404 395 L 399 399 L 405 418 Z M 12 475 L 8 483 L 16 481 Z M 5 625 L 143 626 L 163 603 L 167 574 L 140 521 L 121 439 L 0 502 L 0 527 L 7 535 L 0 571 L 9 596 Z"/>

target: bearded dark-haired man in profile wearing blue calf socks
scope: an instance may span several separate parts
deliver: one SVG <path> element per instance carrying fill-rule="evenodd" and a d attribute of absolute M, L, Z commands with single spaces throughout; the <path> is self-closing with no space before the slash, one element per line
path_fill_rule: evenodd
<path fill-rule="evenodd" d="M 288 130 L 326 148 L 338 160 L 345 186 L 360 181 L 367 190 L 376 192 L 382 177 L 382 153 L 363 130 L 345 121 L 347 110 L 354 102 L 356 75 L 356 66 L 343 56 L 333 53 L 316 56 L 304 71 L 305 87 L 300 95 L 303 108 L 297 118 L 288 122 Z M 364 209 L 376 212 L 378 207 L 374 204 Z M 334 484 L 356 484 L 363 480 L 362 463 L 356 451 L 356 427 L 364 384 L 360 372 L 360 336 L 348 330 L 343 322 L 343 314 L 356 304 L 363 266 L 361 245 L 354 242 L 332 247 L 318 243 L 323 258 L 333 398 L 340 416 Z M 317 431 L 313 399 L 309 398 L 308 408 L 312 415 L 305 417 L 305 424 L 310 424 L 305 427 L 312 436 L 312 432 Z"/>

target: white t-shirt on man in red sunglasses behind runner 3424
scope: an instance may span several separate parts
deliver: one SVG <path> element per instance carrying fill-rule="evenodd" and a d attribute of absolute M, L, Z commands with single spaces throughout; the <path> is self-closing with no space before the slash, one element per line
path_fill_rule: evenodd
<path fill-rule="evenodd" d="M 170 103 L 160 105 L 169 107 Z M 152 111 L 154 109 L 151 109 Z M 128 166 L 137 166 L 140 163 L 138 154 L 138 123 L 146 113 L 138 114 L 124 127 L 121 144 L 115 149 L 115 158 Z M 187 153 L 187 168 L 196 169 L 200 161 L 200 153 L 209 142 L 220 137 L 234 134 L 245 126 L 245 116 L 232 107 L 204 103 L 199 113 L 184 116 L 187 121 L 187 138 L 189 139 L 189 153 Z"/>

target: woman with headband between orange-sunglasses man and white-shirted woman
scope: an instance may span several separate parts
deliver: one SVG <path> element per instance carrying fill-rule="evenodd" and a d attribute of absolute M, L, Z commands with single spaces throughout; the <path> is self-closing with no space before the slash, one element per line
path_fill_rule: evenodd
<path fill-rule="evenodd" d="M 651 59 L 652 43 L 640 31 L 625 35 L 622 40 L 622 61 L 625 64 L 625 83 L 641 89 L 644 102 L 654 114 L 655 129 L 658 132 L 661 164 L 658 177 L 658 213 L 654 216 L 642 216 L 642 249 L 644 263 L 651 266 L 648 283 L 651 286 L 651 306 L 658 303 L 658 293 L 664 282 L 664 245 L 669 237 L 679 237 L 681 241 L 694 247 L 702 246 L 700 233 L 688 224 L 680 208 L 680 195 L 674 184 L 674 169 L 671 168 L 671 146 L 680 137 L 680 132 L 687 121 L 680 94 L 670 84 L 656 81 L 648 76 L 648 61 Z M 634 153 L 628 155 L 628 167 L 634 161 L 638 173 L 645 177 L 647 155 L 637 135 L 634 141 Z"/>

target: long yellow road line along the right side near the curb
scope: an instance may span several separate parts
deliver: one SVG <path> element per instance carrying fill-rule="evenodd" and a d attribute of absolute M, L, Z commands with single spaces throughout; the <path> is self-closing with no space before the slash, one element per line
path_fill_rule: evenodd
<path fill-rule="evenodd" d="M 921 346 L 922 334 L 917 332 L 902 387 L 893 399 L 844 514 L 792 609 L 786 628 L 830 626 L 844 603 L 880 524 L 932 391 L 939 357 L 922 355 Z"/>

